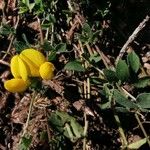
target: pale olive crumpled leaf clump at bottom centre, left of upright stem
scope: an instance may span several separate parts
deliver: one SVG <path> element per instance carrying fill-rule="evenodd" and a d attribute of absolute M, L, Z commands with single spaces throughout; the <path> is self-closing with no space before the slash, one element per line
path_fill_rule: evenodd
<path fill-rule="evenodd" d="M 75 142 L 83 136 L 83 127 L 66 112 L 56 111 L 49 117 L 51 126 L 65 137 Z"/>

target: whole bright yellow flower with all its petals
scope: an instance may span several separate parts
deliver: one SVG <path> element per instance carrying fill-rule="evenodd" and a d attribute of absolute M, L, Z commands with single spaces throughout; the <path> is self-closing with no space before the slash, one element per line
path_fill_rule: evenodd
<path fill-rule="evenodd" d="M 4 83 L 5 89 L 10 92 L 23 92 L 30 84 L 30 77 L 52 79 L 55 67 L 51 62 L 47 62 L 41 52 L 25 49 L 19 55 L 12 57 L 10 69 L 14 78 Z"/>

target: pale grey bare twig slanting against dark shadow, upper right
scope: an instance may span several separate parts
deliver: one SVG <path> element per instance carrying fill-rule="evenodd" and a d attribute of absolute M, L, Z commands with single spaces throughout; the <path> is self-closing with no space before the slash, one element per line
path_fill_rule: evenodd
<path fill-rule="evenodd" d="M 128 38 L 122 49 L 120 50 L 120 53 L 116 59 L 116 63 L 121 59 L 126 52 L 126 49 L 130 43 L 132 43 L 135 38 L 137 37 L 138 33 L 145 27 L 146 22 L 148 22 L 150 19 L 149 16 L 146 16 L 145 19 L 138 25 L 138 27 L 134 30 L 134 32 L 131 34 L 131 36 Z"/>

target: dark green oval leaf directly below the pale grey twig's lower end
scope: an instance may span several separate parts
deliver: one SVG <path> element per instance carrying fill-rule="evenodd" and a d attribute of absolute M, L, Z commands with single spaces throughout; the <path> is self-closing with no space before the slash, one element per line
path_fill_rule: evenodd
<path fill-rule="evenodd" d="M 125 82 L 129 78 L 129 68 L 124 60 L 119 60 L 116 66 L 116 75 L 118 79 Z"/>

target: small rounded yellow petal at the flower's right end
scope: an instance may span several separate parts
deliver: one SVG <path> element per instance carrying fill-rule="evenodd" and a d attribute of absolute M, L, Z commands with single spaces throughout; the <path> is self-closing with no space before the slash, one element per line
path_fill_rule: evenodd
<path fill-rule="evenodd" d="M 45 80 L 51 80 L 54 76 L 55 67 L 50 62 L 45 62 L 40 66 L 40 75 Z"/>

